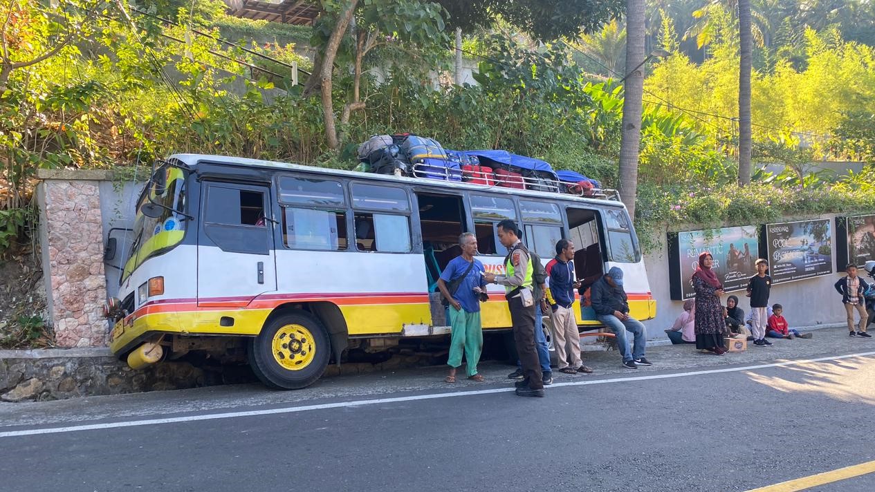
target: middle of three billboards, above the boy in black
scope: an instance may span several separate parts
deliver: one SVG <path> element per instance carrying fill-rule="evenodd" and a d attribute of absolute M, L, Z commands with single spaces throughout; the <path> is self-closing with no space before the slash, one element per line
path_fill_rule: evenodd
<path fill-rule="evenodd" d="M 829 218 L 766 225 L 772 283 L 832 274 L 832 221 Z"/>

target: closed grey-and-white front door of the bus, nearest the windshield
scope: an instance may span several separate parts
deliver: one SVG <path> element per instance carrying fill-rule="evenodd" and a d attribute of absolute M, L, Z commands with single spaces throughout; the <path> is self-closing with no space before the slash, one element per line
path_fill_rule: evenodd
<path fill-rule="evenodd" d="M 198 306 L 242 308 L 276 291 L 269 187 L 205 182 L 200 203 Z"/>

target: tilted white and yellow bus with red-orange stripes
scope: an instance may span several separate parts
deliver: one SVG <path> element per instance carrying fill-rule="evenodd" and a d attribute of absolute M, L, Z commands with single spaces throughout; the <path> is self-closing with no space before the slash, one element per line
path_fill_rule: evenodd
<path fill-rule="evenodd" d="M 143 367 L 190 351 L 245 354 L 266 385 L 311 385 L 347 348 L 449 333 L 437 277 L 477 235 L 478 259 L 503 273 L 496 224 L 516 221 L 546 262 L 577 247 L 578 278 L 626 273 L 632 315 L 655 301 L 626 208 L 616 199 L 328 170 L 228 156 L 156 163 L 137 203 L 110 347 Z M 483 328 L 511 326 L 490 286 Z M 598 327 L 576 307 L 582 330 Z M 245 351 L 244 351 L 245 350 Z"/>

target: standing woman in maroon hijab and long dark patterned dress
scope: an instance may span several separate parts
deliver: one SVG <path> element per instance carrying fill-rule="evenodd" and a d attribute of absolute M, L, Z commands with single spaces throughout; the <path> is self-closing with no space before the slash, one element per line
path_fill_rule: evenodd
<path fill-rule="evenodd" d="M 714 258 L 711 253 L 702 253 L 699 255 L 699 267 L 693 274 L 693 290 L 696 291 L 696 348 L 722 356 L 726 353 L 723 336 L 727 331 L 723 306 L 720 304 L 723 284 L 711 268 L 713 265 Z"/>

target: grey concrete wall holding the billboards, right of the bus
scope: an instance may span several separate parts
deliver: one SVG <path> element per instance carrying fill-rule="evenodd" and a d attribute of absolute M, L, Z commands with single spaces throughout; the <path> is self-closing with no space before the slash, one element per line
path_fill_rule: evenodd
<path fill-rule="evenodd" d="M 836 217 L 835 214 L 824 214 L 821 218 Z M 811 217 L 806 217 L 811 218 Z M 785 221 L 802 220 L 806 218 L 786 218 Z M 696 229 L 695 225 L 676 229 L 677 231 L 690 231 Z M 832 231 L 832 251 L 836 251 L 835 221 Z M 657 251 L 645 256 L 647 265 L 650 290 L 656 300 L 656 318 L 645 322 L 648 327 L 649 338 L 665 338 L 664 329 L 668 329 L 675 322 L 678 315 L 683 313 L 683 301 L 672 301 L 669 286 L 669 248 L 666 232 L 661 233 L 661 243 Z M 836 270 L 835 255 L 833 255 L 833 270 Z M 844 267 L 844 266 L 843 266 Z M 779 303 L 784 307 L 784 317 L 793 328 L 807 328 L 818 326 L 844 325 L 845 313 L 842 298 L 837 295 L 833 284 L 841 278 L 841 274 L 825 275 L 813 279 L 794 281 L 777 284 L 772 288 L 769 296 L 769 304 Z M 727 293 L 739 297 L 739 307 L 750 312 L 750 302 L 745 297 L 745 291 Z M 723 299 L 725 303 L 725 297 Z"/>

